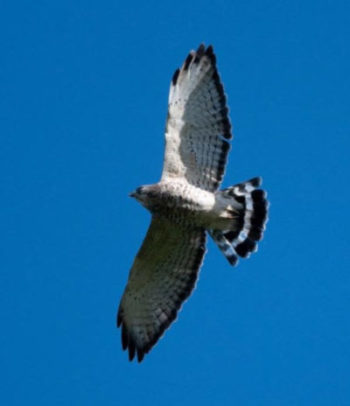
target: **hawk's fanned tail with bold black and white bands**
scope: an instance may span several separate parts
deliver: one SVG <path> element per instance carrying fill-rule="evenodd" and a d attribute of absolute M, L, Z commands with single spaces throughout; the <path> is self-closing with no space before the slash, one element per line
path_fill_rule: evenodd
<path fill-rule="evenodd" d="M 268 201 L 266 192 L 258 189 L 261 178 L 253 178 L 227 189 L 218 191 L 231 198 L 228 211 L 235 219 L 230 230 L 210 230 L 210 235 L 231 265 L 236 265 L 238 256 L 247 258 L 257 250 L 257 241 L 262 239 L 267 221 Z"/>

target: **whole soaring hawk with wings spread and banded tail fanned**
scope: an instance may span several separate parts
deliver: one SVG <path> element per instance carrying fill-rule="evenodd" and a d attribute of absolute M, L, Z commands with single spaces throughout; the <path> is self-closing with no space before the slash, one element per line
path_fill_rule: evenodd
<path fill-rule="evenodd" d="M 130 361 L 143 360 L 192 292 L 207 234 L 231 265 L 262 238 L 261 178 L 218 190 L 231 138 L 213 47 L 201 44 L 171 80 L 161 180 L 130 194 L 152 215 L 117 314 Z"/>

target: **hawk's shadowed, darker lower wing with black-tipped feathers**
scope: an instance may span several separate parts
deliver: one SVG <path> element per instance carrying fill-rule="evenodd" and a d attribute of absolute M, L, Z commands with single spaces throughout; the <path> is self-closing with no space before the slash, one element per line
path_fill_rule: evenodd
<path fill-rule="evenodd" d="M 153 217 L 131 268 L 117 325 L 129 359 L 142 361 L 190 295 L 205 254 L 205 231 Z"/>

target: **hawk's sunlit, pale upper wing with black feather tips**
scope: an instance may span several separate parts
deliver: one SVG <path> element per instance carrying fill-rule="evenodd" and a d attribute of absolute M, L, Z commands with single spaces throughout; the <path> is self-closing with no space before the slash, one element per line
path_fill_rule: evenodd
<path fill-rule="evenodd" d="M 170 85 L 162 180 L 185 178 L 215 191 L 223 178 L 231 124 L 212 46 L 191 51 Z"/>

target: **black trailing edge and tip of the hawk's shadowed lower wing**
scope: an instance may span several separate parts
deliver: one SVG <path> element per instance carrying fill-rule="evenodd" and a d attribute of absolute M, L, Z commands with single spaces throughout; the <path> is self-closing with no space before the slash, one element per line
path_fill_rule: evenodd
<path fill-rule="evenodd" d="M 167 320 L 165 320 L 158 328 L 158 331 L 154 334 L 151 340 L 147 343 L 147 345 L 143 347 L 138 347 L 136 340 L 132 337 L 132 334 L 128 331 L 126 323 L 124 322 L 123 318 L 123 308 L 120 305 L 117 313 L 117 327 L 121 327 L 121 343 L 123 350 L 128 350 L 129 361 L 132 361 L 137 355 L 137 361 L 141 362 L 151 348 L 157 343 L 159 338 L 163 335 L 165 330 L 170 326 L 170 324 L 176 319 L 179 309 L 183 302 L 190 296 L 194 284 L 198 277 L 198 272 L 203 262 L 203 257 L 205 254 L 205 242 L 206 242 L 206 234 L 203 230 L 200 245 L 197 247 L 197 253 L 194 256 L 191 270 L 192 273 L 186 279 L 187 288 L 183 290 L 181 293 L 177 295 L 176 300 L 173 300 L 175 308 L 171 311 L 167 312 Z M 164 311 L 164 309 L 163 309 Z"/>

